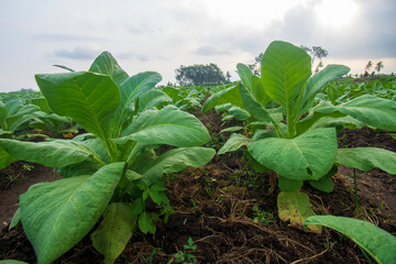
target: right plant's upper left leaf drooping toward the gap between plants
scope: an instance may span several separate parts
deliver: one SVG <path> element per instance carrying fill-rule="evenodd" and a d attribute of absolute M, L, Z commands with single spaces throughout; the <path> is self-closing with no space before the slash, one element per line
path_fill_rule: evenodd
<path fill-rule="evenodd" d="M 240 82 L 237 86 L 221 90 L 205 101 L 202 112 L 206 113 L 216 106 L 220 106 L 227 102 L 232 102 L 233 106 L 244 108 L 242 98 L 239 91 Z"/>

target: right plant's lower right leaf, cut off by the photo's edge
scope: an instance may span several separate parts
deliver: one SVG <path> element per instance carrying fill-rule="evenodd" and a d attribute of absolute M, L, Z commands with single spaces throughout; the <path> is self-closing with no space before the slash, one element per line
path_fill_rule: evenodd
<path fill-rule="evenodd" d="M 339 148 L 336 163 L 363 172 L 378 167 L 396 174 L 396 153 L 377 147 Z"/>

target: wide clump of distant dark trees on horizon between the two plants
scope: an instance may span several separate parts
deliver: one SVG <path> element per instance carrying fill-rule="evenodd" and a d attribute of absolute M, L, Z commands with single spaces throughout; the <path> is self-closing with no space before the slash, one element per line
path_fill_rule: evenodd
<path fill-rule="evenodd" d="M 226 82 L 226 77 L 216 64 L 182 65 L 176 72 L 176 80 L 180 86 L 218 85 Z"/>

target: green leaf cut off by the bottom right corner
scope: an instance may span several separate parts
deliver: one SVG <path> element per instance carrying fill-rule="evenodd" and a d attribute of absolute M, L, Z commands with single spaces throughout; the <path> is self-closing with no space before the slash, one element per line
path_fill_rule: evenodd
<path fill-rule="evenodd" d="M 334 229 L 365 250 L 380 264 L 396 263 L 396 238 L 371 222 L 345 217 L 315 216 L 304 222 L 304 227 L 308 224 Z"/>

